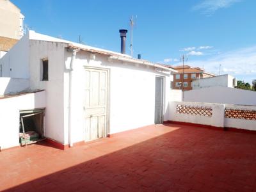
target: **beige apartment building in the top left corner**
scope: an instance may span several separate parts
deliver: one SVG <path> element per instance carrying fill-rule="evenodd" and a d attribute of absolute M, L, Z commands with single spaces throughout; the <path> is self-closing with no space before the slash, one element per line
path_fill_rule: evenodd
<path fill-rule="evenodd" d="M 9 0 L 0 0 L 0 58 L 24 35 L 23 20 L 17 6 Z"/>

